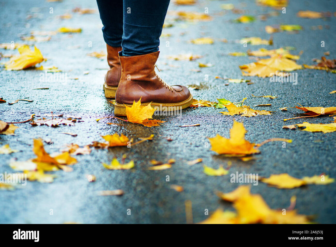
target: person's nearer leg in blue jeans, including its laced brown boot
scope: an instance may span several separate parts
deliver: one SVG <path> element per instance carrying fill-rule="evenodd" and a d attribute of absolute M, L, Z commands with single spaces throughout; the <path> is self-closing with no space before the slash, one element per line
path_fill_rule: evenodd
<path fill-rule="evenodd" d="M 154 70 L 168 5 L 169 0 L 124 0 L 123 50 L 119 52 L 122 72 L 114 115 L 126 116 L 126 106 L 140 98 L 141 104 L 159 108 L 160 115 L 180 114 L 193 102 L 186 87 L 169 86 Z"/>

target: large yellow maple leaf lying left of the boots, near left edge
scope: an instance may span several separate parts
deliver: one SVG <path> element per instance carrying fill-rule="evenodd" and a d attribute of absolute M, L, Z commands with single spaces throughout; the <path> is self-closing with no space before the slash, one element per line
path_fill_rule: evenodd
<path fill-rule="evenodd" d="M 18 51 L 20 55 L 12 56 L 5 63 L 6 70 L 23 70 L 35 66 L 44 60 L 42 53 L 36 46 L 34 46 L 34 51 L 28 45 L 18 47 Z"/>

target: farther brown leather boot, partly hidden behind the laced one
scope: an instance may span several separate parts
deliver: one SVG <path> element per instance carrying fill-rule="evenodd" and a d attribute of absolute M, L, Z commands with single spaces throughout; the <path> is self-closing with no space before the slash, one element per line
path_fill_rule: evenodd
<path fill-rule="evenodd" d="M 106 44 L 107 47 L 107 62 L 110 66 L 107 74 L 105 75 L 105 83 L 103 89 L 105 97 L 115 98 L 117 87 L 121 76 L 121 66 L 118 56 L 118 52 L 121 51 L 121 47 L 112 47 Z"/>

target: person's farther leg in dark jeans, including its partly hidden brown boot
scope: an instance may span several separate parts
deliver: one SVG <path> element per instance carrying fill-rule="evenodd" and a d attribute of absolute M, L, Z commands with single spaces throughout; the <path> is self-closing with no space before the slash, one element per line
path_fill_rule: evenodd
<path fill-rule="evenodd" d="M 123 1 L 97 0 L 100 19 L 104 25 L 103 37 L 107 48 L 107 61 L 110 66 L 103 89 L 105 97 L 114 98 L 121 76 L 121 66 L 118 52 L 121 51 L 123 36 Z"/>

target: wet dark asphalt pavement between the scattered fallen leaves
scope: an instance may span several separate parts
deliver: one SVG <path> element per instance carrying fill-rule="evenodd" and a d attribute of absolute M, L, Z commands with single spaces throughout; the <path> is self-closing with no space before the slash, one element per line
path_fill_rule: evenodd
<path fill-rule="evenodd" d="M 24 4 L 23 4 L 24 3 Z M 0 0 L 0 43 L 35 44 L 48 60 L 41 65 L 56 66 L 67 73 L 67 82 L 40 82 L 41 71 L 27 69 L 23 71 L 0 71 L 0 97 L 7 102 L 16 99 L 30 99 L 33 102 L 19 101 L 17 104 L 0 105 L 0 119 L 6 122 L 23 121 L 30 115 L 44 116 L 54 114 L 75 115 L 82 117 L 83 122 L 75 126 L 33 127 L 30 123 L 16 124 L 19 128 L 15 135 L 0 135 L 0 146 L 7 143 L 18 153 L 0 155 L 0 173 L 13 173 L 9 167 L 10 159 L 24 161 L 34 158 L 32 144 L 34 138 L 51 139 L 53 144 L 45 144 L 48 153 L 59 152 L 67 143 L 88 145 L 92 141 L 102 141 L 101 135 L 123 133 L 134 140 L 154 134 L 152 141 L 145 141 L 131 148 L 116 147 L 109 150 L 94 150 L 90 155 L 78 155 L 78 163 L 73 165 L 72 172 L 62 170 L 51 172 L 57 175 L 53 183 L 28 181 L 26 186 L 20 186 L 14 191 L 0 191 L 0 222 L 1 223 L 185 223 L 185 201 L 191 200 L 194 222 L 200 222 L 209 212 L 218 207 L 234 210 L 230 203 L 222 202 L 214 193 L 216 190 L 230 192 L 241 184 L 230 182 L 230 173 L 258 173 L 268 177 L 270 174 L 289 173 L 294 177 L 313 176 L 326 173 L 336 177 L 335 145 L 336 132 L 323 134 L 300 130 L 285 130 L 283 125 L 302 123 L 307 119 L 294 119 L 284 122 L 284 118 L 303 116 L 302 111 L 289 108 L 287 112 L 281 107 L 302 106 L 336 106 L 336 75 L 317 70 L 300 70 L 297 72 L 296 85 L 291 82 L 269 82 L 269 79 L 258 77 L 242 77 L 239 65 L 253 60 L 249 57 L 233 57 L 229 52 L 259 48 L 295 47 L 293 54 L 303 51 L 298 64 L 313 64 L 313 58 L 320 58 L 330 51 L 328 58 L 335 58 L 336 48 L 336 17 L 328 19 L 303 19 L 296 17 L 299 10 L 336 11 L 333 1 L 290 1 L 286 14 L 268 17 L 262 21 L 259 18 L 254 23 L 239 24 L 231 20 L 240 16 L 220 8 L 227 1 L 199 1 L 195 6 L 176 6 L 170 4 L 169 11 L 185 10 L 203 12 L 207 7 L 210 22 L 185 23 L 173 22 L 174 16 L 169 12 L 166 20 L 174 26 L 165 28 L 163 33 L 171 34 L 161 39 L 158 67 L 159 75 L 169 84 L 190 85 L 203 83 L 207 89 L 194 90 L 192 94 L 197 99 L 215 101 L 216 98 L 226 98 L 237 102 L 247 97 L 246 104 L 271 104 L 270 107 L 258 107 L 260 110 L 274 111 L 271 116 L 241 117 L 222 116 L 222 109 L 197 108 L 186 109 L 182 116 L 156 116 L 155 119 L 165 120 L 160 127 L 147 128 L 141 125 L 126 123 L 117 119 L 98 118 L 113 116 L 113 105 L 104 97 L 102 91 L 103 76 L 108 68 L 104 59 L 89 57 L 92 51 L 105 51 L 102 38 L 101 22 L 98 12 L 80 15 L 72 13 L 71 19 L 62 20 L 58 15 L 71 13 L 75 7 L 96 8 L 94 1 L 3 1 Z M 271 8 L 256 6 L 254 1 L 230 1 L 238 9 L 249 11 L 249 14 L 260 15 L 274 11 Z M 53 13 L 49 13 L 50 7 Z M 32 18 L 27 19 L 27 16 Z M 264 30 L 266 25 L 298 24 L 304 30 L 298 33 L 273 34 L 273 46 L 243 47 L 235 40 L 257 36 L 269 39 Z M 322 30 L 312 30 L 312 26 L 322 25 Z M 82 28 L 79 34 L 57 34 L 48 42 L 24 42 L 21 36 L 28 36 L 31 31 L 54 31 L 59 27 Z M 183 33 L 183 35 L 182 35 Z M 212 37 L 213 45 L 195 45 L 188 41 L 193 38 Z M 220 39 L 228 42 L 221 42 Z M 169 47 L 166 46 L 169 41 Z M 325 41 L 325 47 L 321 47 Z M 92 44 L 92 47 L 89 46 Z M 1 50 L 3 54 L 16 54 L 17 50 Z M 203 55 L 195 61 L 172 61 L 167 56 L 180 53 Z M 1 62 L 7 61 L 3 58 Z M 210 68 L 199 69 L 198 62 L 211 63 Z M 87 73 L 89 72 L 89 73 Z M 85 73 L 85 74 L 84 74 Z M 223 78 L 243 78 L 253 82 L 230 83 L 224 85 Z M 208 80 L 206 78 L 208 77 Z M 74 80 L 78 78 L 78 80 Z M 34 88 L 47 87 L 45 90 Z M 275 99 L 252 97 L 251 94 L 277 95 Z M 233 120 L 243 122 L 246 139 L 260 143 L 268 138 L 288 138 L 283 148 L 282 142 L 267 143 L 260 148 L 261 153 L 255 155 L 256 160 L 243 162 L 238 158 L 216 155 L 210 151 L 207 137 L 217 133 L 228 137 Z M 310 118 L 310 123 L 330 123 L 328 116 Z M 107 122 L 121 125 L 108 125 Z M 200 124 L 194 127 L 178 127 L 183 124 Z M 77 136 L 62 134 L 73 132 Z M 167 138 L 172 139 L 168 141 Z M 126 161 L 133 159 L 135 168 L 131 170 L 113 171 L 102 166 L 109 163 L 113 157 L 121 159 L 126 154 Z M 175 159 L 172 168 L 162 171 L 151 171 L 149 161 L 152 159 L 166 162 Z M 202 158 L 203 162 L 189 166 L 187 161 Z M 203 173 L 203 165 L 218 168 L 227 167 L 232 162 L 229 174 L 219 177 L 207 176 Z M 85 175 L 94 174 L 95 182 L 88 182 Z M 166 176 L 169 175 L 169 181 Z M 183 192 L 171 189 L 172 184 L 184 187 Z M 326 186 L 309 185 L 291 190 L 280 190 L 268 187 L 259 182 L 251 186 L 253 193 L 259 193 L 266 203 L 274 209 L 287 208 L 291 196 L 297 197 L 295 208 L 298 213 L 314 215 L 315 222 L 335 223 L 335 184 Z M 123 196 L 98 196 L 103 190 L 122 189 Z M 50 215 L 50 209 L 53 215 Z M 128 209 L 131 215 L 127 214 Z"/>

